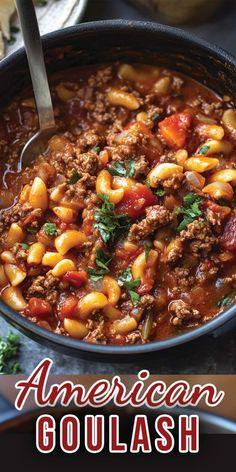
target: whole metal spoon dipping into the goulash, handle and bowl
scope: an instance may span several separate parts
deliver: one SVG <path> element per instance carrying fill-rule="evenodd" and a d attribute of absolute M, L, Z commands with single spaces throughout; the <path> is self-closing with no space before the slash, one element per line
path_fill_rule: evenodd
<path fill-rule="evenodd" d="M 16 0 L 16 7 L 28 58 L 40 128 L 21 152 L 18 163 L 20 171 L 22 167 L 31 164 L 46 150 L 48 139 L 56 131 L 56 124 L 33 2 L 32 0 Z"/>

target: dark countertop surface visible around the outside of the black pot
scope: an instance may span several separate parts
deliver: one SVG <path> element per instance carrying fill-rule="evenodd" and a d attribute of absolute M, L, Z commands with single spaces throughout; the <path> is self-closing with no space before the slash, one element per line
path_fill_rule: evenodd
<path fill-rule="evenodd" d="M 225 5 L 228 2 L 225 2 Z M 194 26 L 184 26 L 184 29 L 231 51 L 236 55 L 235 16 L 236 4 L 223 9 L 207 23 Z M 138 12 L 124 0 L 89 0 L 89 6 L 84 20 L 99 20 L 111 18 L 127 18 L 147 20 L 147 16 Z M 0 336 L 5 335 L 9 325 L 2 320 Z M 151 354 L 137 361 L 135 358 L 129 364 L 114 364 L 84 361 L 58 354 L 40 346 L 29 338 L 21 335 L 20 364 L 24 373 L 29 373 L 45 357 L 54 361 L 52 373 L 62 374 L 135 374 L 141 368 L 147 368 L 151 373 L 158 374 L 230 374 L 236 371 L 236 329 L 229 332 L 218 332 L 218 336 L 205 336 L 191 344 L 177 349 Z"/>

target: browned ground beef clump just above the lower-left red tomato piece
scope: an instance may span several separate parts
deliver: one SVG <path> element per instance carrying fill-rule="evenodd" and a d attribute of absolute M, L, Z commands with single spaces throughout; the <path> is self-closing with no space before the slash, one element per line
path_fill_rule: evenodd
<path fill-rule="evenodd" d="M 39 297 L 54 305 L 58 301 L 59 284 L 60 279 L 54 277 L 50 273 L 47 273 L 45 276 L 39 275 L 33 280 L 32 285 L 28 288 L 26 299 L 28 300 L 31 297 Z"/>

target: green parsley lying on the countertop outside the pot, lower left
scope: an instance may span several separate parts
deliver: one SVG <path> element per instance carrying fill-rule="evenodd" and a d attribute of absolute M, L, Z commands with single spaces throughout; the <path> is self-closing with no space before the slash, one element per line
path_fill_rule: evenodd
<path fill-rule="evenodd" d="M 5 339 L 0 337 L 0 374 L 17 374 L 20 372 L 19 362 L 10 361 L 14 358 L 20 345 L 20 337 L 10 331 Z"/>

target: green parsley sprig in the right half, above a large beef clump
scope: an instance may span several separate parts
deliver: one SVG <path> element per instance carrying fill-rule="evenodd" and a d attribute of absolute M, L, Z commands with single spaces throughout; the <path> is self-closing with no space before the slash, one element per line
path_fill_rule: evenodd
<path fill-rule="evenodd" d="M 184 197 L 185 207 L 178 207 L 175 210 L 177 215 L 183 215 L 183 220 L 179 224 L 177 231 L 183 231 L 190 223 L 202 215 L 200 204 L 202 199 L 193 192 L 189 192 Z"/>

